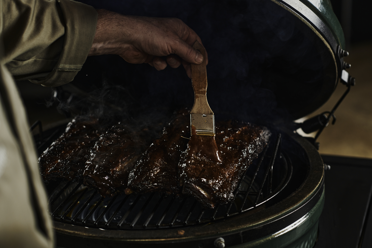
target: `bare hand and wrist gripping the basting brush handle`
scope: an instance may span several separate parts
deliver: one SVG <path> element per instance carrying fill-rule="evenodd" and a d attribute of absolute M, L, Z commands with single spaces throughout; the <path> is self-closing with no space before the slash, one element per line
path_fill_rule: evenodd
<path fill-rule="evenodd" d="M 203 61 L 202 54 L 191 47 L 195 41 L 202 44 L 201 39 L 180 19 L 97 12 L 96 35 L 88 56 L 118 54 L 129 63 L 148 63 L 157 70 L 164 70 L 167 63 L 172 68 L 182 64 L 190 78 L 190 63 Z M 205 57 L 208 64 L 207 53 Z"/>

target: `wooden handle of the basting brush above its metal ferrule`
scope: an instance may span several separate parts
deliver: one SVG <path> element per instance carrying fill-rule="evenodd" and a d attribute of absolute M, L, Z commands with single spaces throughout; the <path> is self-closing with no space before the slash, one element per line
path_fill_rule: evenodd
<path fill-rule="evenodd" d="M 213 115 L 212 109 L 209 107 L 207 101 L 207 70 L 205 62 L 205 50 L 203 46 L 195 41 L 192 46 L 203 55 L 203 62 L 201 64 L 195 65 L 191 64 L 191 80 L 192 87 L 194 89 L 195 100 L 194 106 L 192 107 L 190 114 L 202 114 L 202 115 Z"/>

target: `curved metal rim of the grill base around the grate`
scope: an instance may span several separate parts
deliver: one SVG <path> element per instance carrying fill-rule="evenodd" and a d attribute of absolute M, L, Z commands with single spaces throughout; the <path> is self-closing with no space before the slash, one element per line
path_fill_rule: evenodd
<path fill-rule="evenodd" d="M 144 245 L 166 244 L 177 241 L 182 242 L 180 244 L 200 240 L 208 242 L 208 239 L 221 236 L 225 238 L 225 236 L 232 236 L 237 233 L 239 236 L 243 235 L 243 233 L 247 235 L 255 231 L 255 229 L 261 229 L 265 226 L 271 226 L 271 228 L 276 228 L 279 231 L 281 229 L 279 227 L 280 225 L 273 225 L 273 223 L 278 223 L 277 220 L 286 218 L 291 219 L 291 221 L 288 221 L 290 223 L 287 222 L 285 225 L 290 225 L 304 216 L 318 202 L 320 198 L 319 192 L 323 190 L 324 186 L 324 165 L 318 151 L 305 138 L 295 135 L 289 130 L 285 130 L 284 132 L 304 149 L 310 163 L 310 170 L 304 182 L 295 192 L 282 201 L 254 215 L 241 213 L 237 216 L 205 226 L 143 231 L 101 230 L 54 221 L 54 230 L 57 235 L 68 235 L 85 239 L 84 242 L 87 239 L 92 239 L 97 241 L 126 242 L 128 244 L 132 242 L 138 244 L 139 242 Z M 178 233 L 179 230 L 184 230 L 185 233 L 180 235 Z M 102 231 L 105 232 L 104 235 L 102 235 Z M 241 236 L 239 239 L 243 240 L 243 237 Z"/>

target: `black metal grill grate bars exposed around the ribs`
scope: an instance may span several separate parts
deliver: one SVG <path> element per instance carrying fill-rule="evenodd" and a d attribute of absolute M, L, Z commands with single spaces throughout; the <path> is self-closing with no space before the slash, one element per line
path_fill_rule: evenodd
<path fill-rule="evenodd" d="M 177 228 L 219 221 L 259 207 L 268 207 L 292 174 L 289 158 L 281 152 L 280 134 L 268 144 L 240 179 L 232 202 L 203 209 L 193 197 L 166 193 L 118 194 L 101 197 L 76 182 L 48 185 L 54 220 L 101 229 L 144 230 Z M 270 151 L 270 152 L 269 152 Z"/>

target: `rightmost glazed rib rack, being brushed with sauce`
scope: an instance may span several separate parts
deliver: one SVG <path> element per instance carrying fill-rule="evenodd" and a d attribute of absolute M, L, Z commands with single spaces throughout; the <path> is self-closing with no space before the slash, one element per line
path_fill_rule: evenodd
<path fill-rule="evenodd" d="M 179 163 L 182 193 L 213 208 L 234 199 L 238 181 L 270 137 L 268 129 L 247 123 L 216 124 L 216 135 L 198 136 L 195 129 Z"/>

